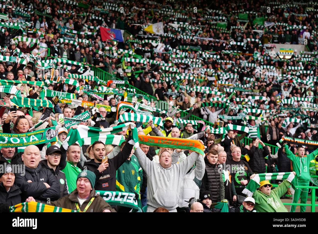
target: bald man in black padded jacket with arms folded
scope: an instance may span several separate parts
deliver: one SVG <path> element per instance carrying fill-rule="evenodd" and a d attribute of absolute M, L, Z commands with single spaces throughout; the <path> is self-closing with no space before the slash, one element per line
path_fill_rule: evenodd
<path fill-rule="evenodd" d="M 25 165 L 23 174 L 16 174 L 16 183 L 20 187 L 21 201 L 32 196 L 41 202 L 59 199 L 59 182 L 50 170 L 43 168 L 40 162 L 40 150 L 35 145 L 25 147 L 22 161 Z"/>

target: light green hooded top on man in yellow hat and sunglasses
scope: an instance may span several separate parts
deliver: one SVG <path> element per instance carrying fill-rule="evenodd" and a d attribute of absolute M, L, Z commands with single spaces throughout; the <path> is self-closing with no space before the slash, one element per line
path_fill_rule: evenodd
<path fill-rule="evenodd" d="M 268 196 L 259 190 L 255 190 L 253 198 L 255 199 L 255 209 L 258 212 L 288 212 L 286 207 L 280 201 L 280 197 L 287 192 L 291 183 L 284 180 L 277 188 L 271 190 Z"/>

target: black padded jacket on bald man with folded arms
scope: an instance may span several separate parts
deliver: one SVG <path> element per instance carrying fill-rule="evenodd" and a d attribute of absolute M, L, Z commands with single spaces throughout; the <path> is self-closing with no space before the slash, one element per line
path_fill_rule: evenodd
<path fill-rule="evenodd" d="M 29 183 L 28 180 L 32 182 Z M 43 168 L 41 164 L 37 168 L 25 167 L 25 175 L 16 174 L 16 183 L 22 191 L 22 201 L 25 201 L 29 196 L 43 202 L 47 202 L 48 198 L 55 201 L 60 197 L 58 181 L 51 171 Z M 44 183 L 51 187 L 46 188 Z"/>

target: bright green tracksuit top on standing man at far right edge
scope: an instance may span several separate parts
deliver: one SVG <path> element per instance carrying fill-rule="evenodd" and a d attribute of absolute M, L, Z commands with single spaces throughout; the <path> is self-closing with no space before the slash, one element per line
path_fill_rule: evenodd
<path fill-rule="evenodd" d="M 296 176 L 298 177 L 296 178 L 296 181 L 298 180 L 300 183 L 308 183 L 310 180 L 309 164 L 311 160 L 315 159 L 316 155 L 318 154 L 318 149 L 308 155 L 304 155 L 304 157 L 301 158 L 298 155 L 294 155 L 289 150 L 288 145 L 285 145 L 284 147 L 287 158 L 293 162 L 293 170 L 296 172 Z"/>

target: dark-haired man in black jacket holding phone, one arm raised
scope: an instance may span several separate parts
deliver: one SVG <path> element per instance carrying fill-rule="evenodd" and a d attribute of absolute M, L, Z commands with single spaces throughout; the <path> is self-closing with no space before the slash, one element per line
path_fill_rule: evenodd
<path fill-rule="evenodd" d="M 133 149 L 135 142 L 132 143 L 131 141 L 131 136 L 129 135 L 128 144 L 114 158 L 104 162 L 101 162 L 102 157 L 106 154 L 104 143 L 101 141 L 93 143 L 94 159 L 86 161 L 84 168 L 87 167 L 87 170 L 95 173 L 95 190 L 116 191 L 116 171 L 126 161 Z"/>

